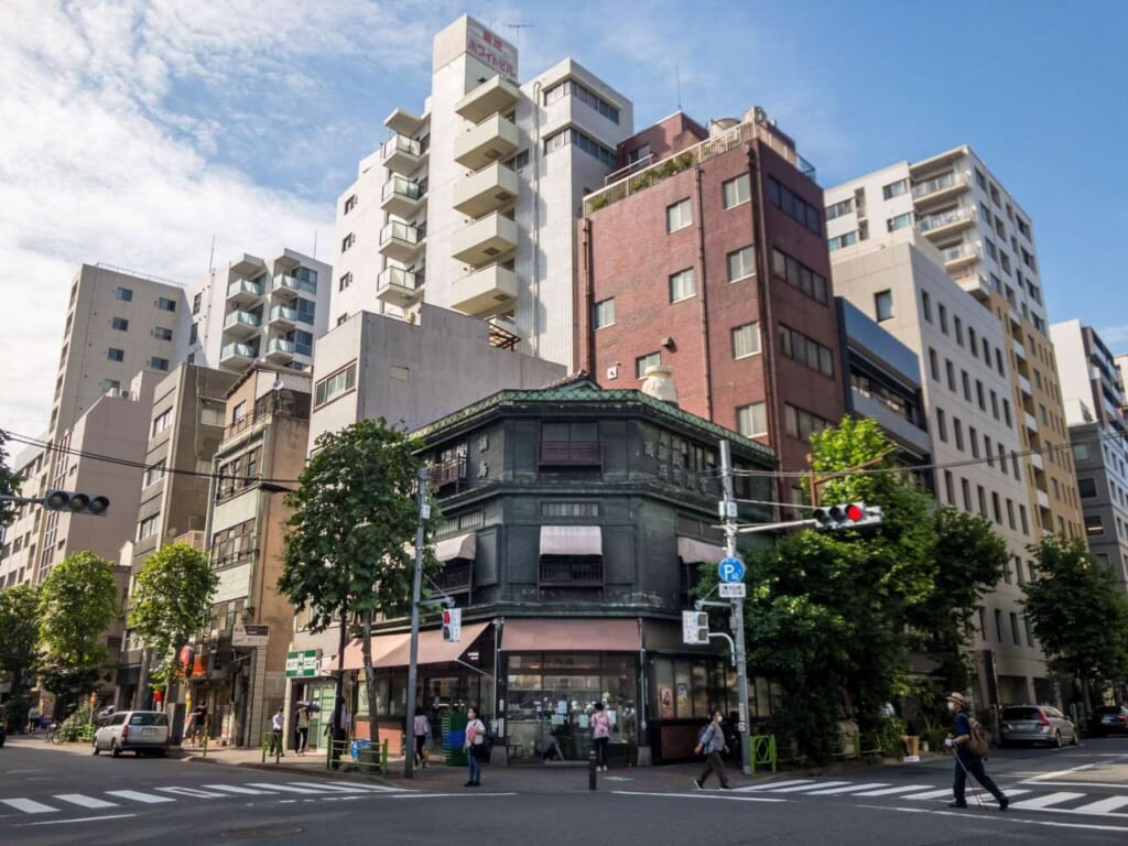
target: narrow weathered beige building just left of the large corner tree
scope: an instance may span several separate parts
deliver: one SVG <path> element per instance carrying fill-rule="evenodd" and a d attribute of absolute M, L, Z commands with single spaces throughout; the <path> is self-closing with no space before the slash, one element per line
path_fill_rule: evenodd
<path fill-rule="evenodd" d="M 205 545 L 219 588 L 190 684 L 192 702 L 208 705 L 221 742 L 257 746 L 285 693 L 294 610 L 275 585 L 290 517 L 283 494 L 296 487 L 306 461 L 310 377 L 256 364 L 226 400 Z M 246 625 L 267 626 L 267 637 L 250 645 Z"/>

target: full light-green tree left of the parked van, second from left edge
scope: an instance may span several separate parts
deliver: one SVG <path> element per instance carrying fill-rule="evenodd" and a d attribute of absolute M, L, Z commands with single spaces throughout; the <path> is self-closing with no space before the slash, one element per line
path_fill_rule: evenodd
<path fill-rule="evenodd" d="M 78 552 L 49 571 L 39 587 L 38 676 L 59 704 L 77 704 L 98 680 L 106 629 L 118 614 L 114 565 L 105 558 Z"/>

